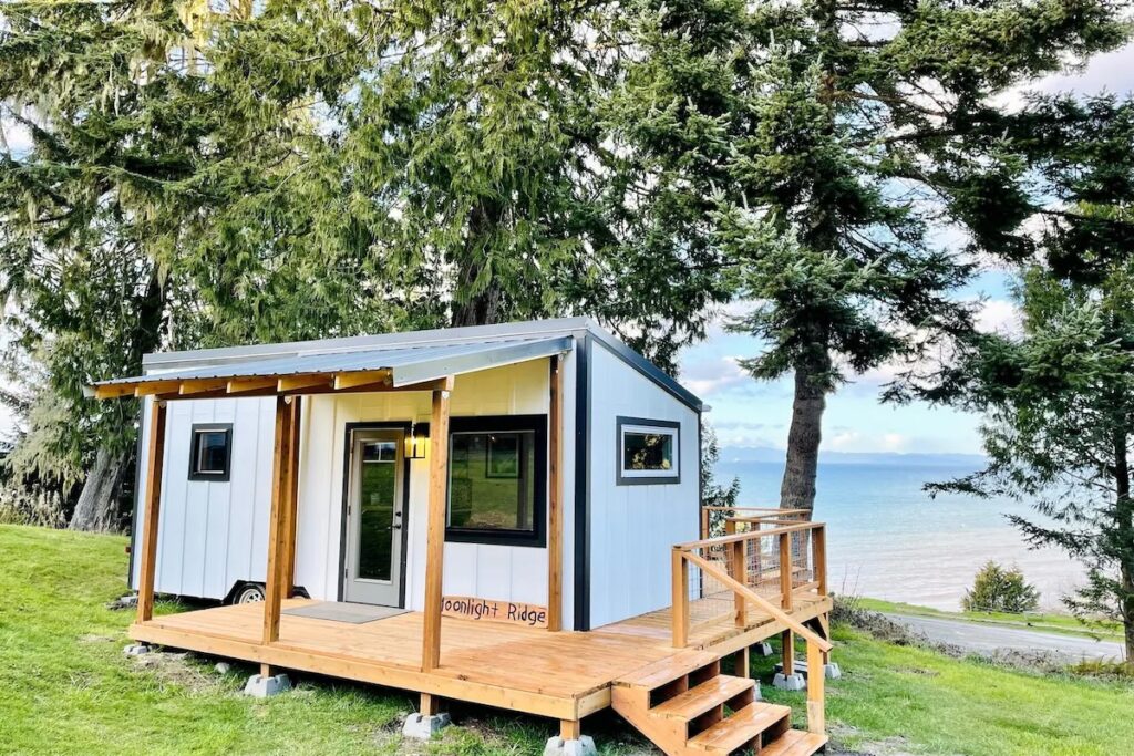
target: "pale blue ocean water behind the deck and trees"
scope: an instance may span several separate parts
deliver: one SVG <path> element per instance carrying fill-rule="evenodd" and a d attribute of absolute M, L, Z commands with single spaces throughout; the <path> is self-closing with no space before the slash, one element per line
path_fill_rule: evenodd
<path fill-rule="evenodd" d="M 976 570 L 993 559 L 1017 564 L 1044 608 L 1083 580 L 1063 552 L 1031 549 L 1005 518 L 1024 503 L 959 494 L 930 498 L 922 486 L 972 473 L 954 466 L 820 465 L 815 519 L 828 524 L 828 583 L 843 594 L 945 610 L 960 608 Z M 741 479 L 741 503 L 776 507 L 782 465 L 721 461 L 718 481 Z"/>

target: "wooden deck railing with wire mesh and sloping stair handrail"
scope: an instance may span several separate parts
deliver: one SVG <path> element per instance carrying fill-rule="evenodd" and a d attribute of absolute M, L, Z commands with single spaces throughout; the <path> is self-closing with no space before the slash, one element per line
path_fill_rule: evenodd
<path fill-rule="evenodd" d="M 755 524 L 745 533 L 677 544 L 672 552 L 674 646 L 706 626 L 779 622 L 807 645 L 807 727 L 822 733 L 823 664 L 831 644 L 793 617 L 797 601 L 827 595 L 827 526 Z M 758 618 L 756 614 L 760 614 Z M 792 651 L 787 649 L 787 657 Z"/>

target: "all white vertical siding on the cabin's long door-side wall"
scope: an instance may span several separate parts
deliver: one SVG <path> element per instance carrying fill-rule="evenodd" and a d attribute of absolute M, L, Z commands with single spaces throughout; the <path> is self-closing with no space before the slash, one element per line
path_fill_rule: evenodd
<path fill-rule="evenodd" d="M 564 618 L 574 620 L 575 357 L 564 364 Z M 548 360 L 536 359 L 457 376 L 452 416 L 547 415 Z M 156 589 L 221 598 L 242 580 L 263 580 L 271 509 L 274 399 L 201 399 L 169 404 Z M 314 598 L 339 594 L 346 428 L 348 423 L 428 423 L 428 393 L 305 397 L 301 426 L 296 584 Z M 145 418 L 149 418 L 146 409 Z M 194 423 L 232 423 L 227 483 L 188 479 Z M 149 428 L 143 427 L 144 450 Z M 144 475 L 141 479 L 144 491 Z M 424 602 L 429 460 L 413 460 L 407 512 L 406 604 Z M 144 507 L 138 508 L 138 533 Z M 141 542 L 135 544 L 141 553 Z M 136 585 L 139 570 L 135 559 Z M 445 593 L 543 605 L 547 549 L 446 544 Z"/>

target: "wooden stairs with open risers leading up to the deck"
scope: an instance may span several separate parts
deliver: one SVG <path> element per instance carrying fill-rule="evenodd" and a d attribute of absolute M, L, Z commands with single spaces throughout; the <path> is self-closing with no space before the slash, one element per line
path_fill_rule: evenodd
<path fill-rule="evenodd" d="M 827 737 L 792 729 L 792 710 L 756 700 L 753 680 L 720 673 L 720 660 L 685 651 L 615 681 L 611 704 L 669 756 L 811 756 Z"/>

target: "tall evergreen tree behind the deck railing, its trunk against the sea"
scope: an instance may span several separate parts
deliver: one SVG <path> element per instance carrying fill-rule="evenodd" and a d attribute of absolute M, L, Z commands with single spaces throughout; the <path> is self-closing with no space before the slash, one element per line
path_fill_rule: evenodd
<path fill-rule="evenodd" d="M 849 375 L 948 348 L 972 272 L 934 243 L 1026 255 L 1026 162 L 997 99 L 1125 40 L 1099 0 L 633 5 L 643 53 L 612 109 L 662 182 L 704 207 L 765 345 L 742 364 L 795 377 L 780 503 L 811 509 L 827 396 Z"/>

